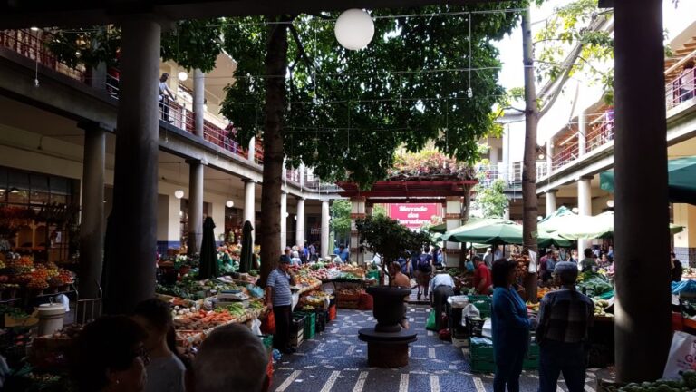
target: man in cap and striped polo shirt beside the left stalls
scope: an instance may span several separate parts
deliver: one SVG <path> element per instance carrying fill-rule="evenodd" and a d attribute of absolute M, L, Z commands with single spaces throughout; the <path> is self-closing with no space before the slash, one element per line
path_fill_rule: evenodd
<path fill-rule="evenodd" d="M 273 309 L 275 335 L 273 347 L 284 354 L 292 354 L 290 347 L 290 325 L 293 320 L 293 294 L 290 286 L 295 286 L 295 275 L 290 270 L 290 258 L 280 257 L 278 267 L 266 279 L 266 306 Z"/>

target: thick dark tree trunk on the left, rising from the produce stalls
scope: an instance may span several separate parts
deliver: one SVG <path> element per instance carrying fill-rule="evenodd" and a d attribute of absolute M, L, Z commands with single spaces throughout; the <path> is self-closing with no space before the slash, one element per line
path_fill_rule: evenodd
<path fill-rule="evenodd" d="M 266 44 L 266 74 L 285 75 L 287 69 L 287 26 L 269 25 Z M 266 122 L 264 125 L 264 183 L 261 187 L 261 285 L 280 258 L 280 197 L 283 184 L 283 117 L 285 78 L 266 78 Z"/>

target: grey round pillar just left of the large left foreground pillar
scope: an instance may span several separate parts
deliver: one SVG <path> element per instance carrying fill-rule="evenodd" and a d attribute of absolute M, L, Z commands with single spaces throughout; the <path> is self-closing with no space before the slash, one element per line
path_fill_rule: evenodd
<path fill-rule="evenodd" d="M 82 216 L 80 220 L 80 298 L 99 297 L 104 250 L 104 162 L 106 134 L 97 124 L 84 129 Z"/>

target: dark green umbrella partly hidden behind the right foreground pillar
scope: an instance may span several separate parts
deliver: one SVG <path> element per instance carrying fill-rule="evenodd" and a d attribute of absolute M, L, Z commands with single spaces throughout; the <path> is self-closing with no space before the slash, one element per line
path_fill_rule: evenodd
<path fill-rule="evenodd" d="M 667 172 L 670 201 L 696 205 L 696 156 L 668 161 Z M 614 192 L 614 171 L 599 174 L 599 187 Z"/>

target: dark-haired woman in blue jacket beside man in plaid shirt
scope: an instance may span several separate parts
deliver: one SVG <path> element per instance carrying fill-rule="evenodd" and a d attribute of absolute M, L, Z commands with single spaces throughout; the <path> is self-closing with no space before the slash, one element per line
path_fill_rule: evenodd
<path fill-rule="evenodd" d="M 519 391 L 522 361 L 529 347 L 531 322 L 525 301 L 517 294 L 517 263 L 499 259 L 493 263 L 493 352 L 496 359 L 494 392 Z"/>

